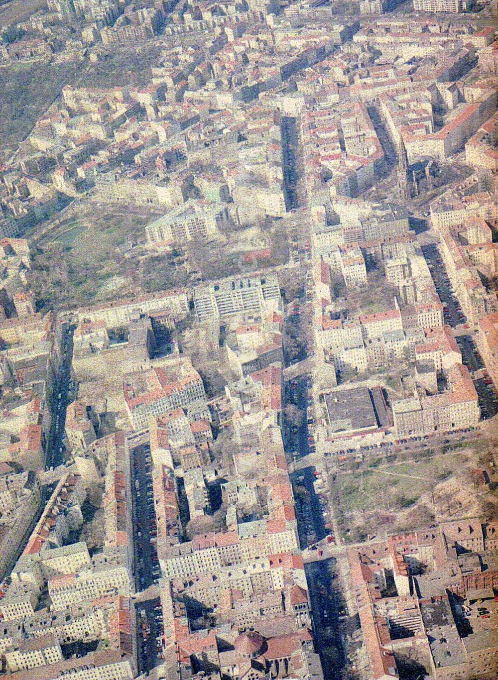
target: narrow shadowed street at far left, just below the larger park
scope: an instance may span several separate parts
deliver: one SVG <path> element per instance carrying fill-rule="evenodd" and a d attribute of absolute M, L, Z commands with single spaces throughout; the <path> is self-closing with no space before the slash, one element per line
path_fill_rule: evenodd
<path fill-rule="evenodd" d="M 52 411 L 52 424 L 47 445 L 46 469 L 56 468 L 64 462 L 65 452 L 65 422 L 66 409 L 69 400 L 69 382 L 71 381 L 71 357 L 73 355 L 74 326 L 63 324 L 63 358 L 59 375 L 54 381 L 54 391 L 50 410 Z"/>

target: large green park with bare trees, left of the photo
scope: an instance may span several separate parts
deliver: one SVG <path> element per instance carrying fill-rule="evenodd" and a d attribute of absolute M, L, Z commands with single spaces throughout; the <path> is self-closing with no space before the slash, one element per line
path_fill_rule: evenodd
<path fill-rule="evenodd" d="M 28 237 L 41 308 L 69 309 L 168 284 L 161 277 L 165 263 L 148 267 L 150 258 L 139 245 L 148 220 L 150 214 L 86 204 L 71 206 L 65 219 L 42 233 L 34 230 Z"/>

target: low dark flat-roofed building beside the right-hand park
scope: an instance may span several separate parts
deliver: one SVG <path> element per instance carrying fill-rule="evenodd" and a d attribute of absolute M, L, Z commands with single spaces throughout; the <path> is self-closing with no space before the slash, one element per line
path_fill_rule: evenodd
<path fill-rule="evenodd" d="M 337 390 L 324 395 L 331 432 L 362 432 L 388 427 L 389 415 L 379 387 Z"/>

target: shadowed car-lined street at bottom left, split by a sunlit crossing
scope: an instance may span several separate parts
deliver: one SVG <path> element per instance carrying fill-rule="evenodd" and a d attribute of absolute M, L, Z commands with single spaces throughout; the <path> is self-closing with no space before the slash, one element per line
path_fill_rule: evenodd
<path fill-rule="evenodd" d="M 131 490 L 133 497 L 133 563 L 135 588 L 146 590 L 160 577 L 159 560 L 152 540 L 156 537 L 156 515 L 152 496 L 150 445 L 140 444 L 130 452 Z M 156 609 L 154 609 L 154 607 Z M 136 605 L 137 645 L 140 673 L 148 673 L 161 663 L 163 643 L 157 640 L 164 634 L 159 599 L 146 600 Z"/>

